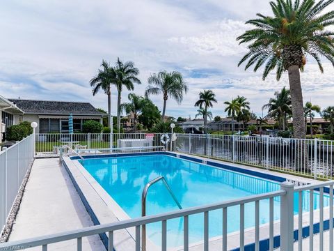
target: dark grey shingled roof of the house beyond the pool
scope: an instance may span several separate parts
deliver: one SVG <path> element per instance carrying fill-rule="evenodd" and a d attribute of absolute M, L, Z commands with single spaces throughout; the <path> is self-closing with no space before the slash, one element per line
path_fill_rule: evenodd
<path fill-rule="evenodd" d="M 65 102 L 65 101 L 46 101 L 46 100 L 23 100 L 8 99 L 26 114 L 73 114 L 104 116 L 105 114 L 97 111 L 89 102 Z"/>

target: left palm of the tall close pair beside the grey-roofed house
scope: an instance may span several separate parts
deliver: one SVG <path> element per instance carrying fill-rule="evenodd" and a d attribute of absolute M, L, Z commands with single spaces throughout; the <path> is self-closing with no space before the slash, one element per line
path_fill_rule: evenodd
<path fill-rule="evenodd" d="M 90 86 L 93 87 L 93 96 L 95 96 L 100 89 L 108 96 L 108 125 L 112 129 L 113 119 L 111 118 L 111 84 L 115 82 L 115 70 L 109 66 L 109 63 L 102 60 L 102 69 L 99 69 L 97 75 L 90 79 Z"/>

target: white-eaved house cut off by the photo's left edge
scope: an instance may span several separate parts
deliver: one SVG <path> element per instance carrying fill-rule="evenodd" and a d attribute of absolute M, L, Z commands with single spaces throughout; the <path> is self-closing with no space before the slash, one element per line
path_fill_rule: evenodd
<path fill-rule="evenodd" d="M 15 116 L 22 116 L 22 114 L 24 114 L 22 109 L 0 96 L 0 143 L 3 141 L 8 126 L 12 126 L 16 122 Z"/>

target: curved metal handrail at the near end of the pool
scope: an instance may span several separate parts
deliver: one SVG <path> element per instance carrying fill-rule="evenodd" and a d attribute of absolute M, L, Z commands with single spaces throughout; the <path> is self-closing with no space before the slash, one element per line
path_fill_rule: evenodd
<path fill-rule="evenodd" d="M 180 202 L 177 200 L 177 197 L 174 195 L 173 190 L 168 185 L 168 183 L 166 181 L 166 178 L 164 176 L 159 176 L 157 178 L 154 178 L 154 180 L 150 181 L 149 183 L 147 183 L 145 185 L 145 188 L 143 190 L 143 194 L 141 195 L 141 216 L 142 217 L 146 216 L 146 197 L 148 195 L 148 189 L 150 188 L 151 185 L 153 185 L 154 183 L 157 183 L 158 181 L 162 181 L 162 183 L 164 183 L 164 185 L 166 186 L 170 195 L 173 197 L 177 206 L 180 209 L 182 209 L 182 206 L 181 206 Z M 142 233 L 141 233 L 141 250 L 146 251 L 146 225 L 141 226 L 141 231 L 142 231 Z"/>

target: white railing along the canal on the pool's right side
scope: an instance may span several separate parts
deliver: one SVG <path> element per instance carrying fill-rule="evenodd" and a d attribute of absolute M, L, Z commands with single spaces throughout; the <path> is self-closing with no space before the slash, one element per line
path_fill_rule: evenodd
<path fill-rule="evenodd" d="M 178 134 L 175 151 L 331 179 L 334 142 L 238 135 Z"/>

